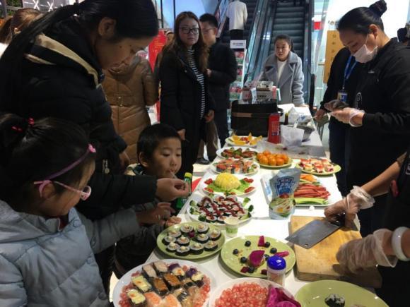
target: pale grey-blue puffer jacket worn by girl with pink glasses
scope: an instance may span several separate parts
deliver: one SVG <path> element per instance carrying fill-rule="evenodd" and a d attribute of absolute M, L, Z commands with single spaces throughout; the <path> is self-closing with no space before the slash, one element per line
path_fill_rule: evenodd
<path fill-rule="evenodd" d="M 73 208 L 59 225 L 0 200 L 1 307 L 109 306 L 94 253 L 138 231 L 135 211 L 91 222 Z"/>

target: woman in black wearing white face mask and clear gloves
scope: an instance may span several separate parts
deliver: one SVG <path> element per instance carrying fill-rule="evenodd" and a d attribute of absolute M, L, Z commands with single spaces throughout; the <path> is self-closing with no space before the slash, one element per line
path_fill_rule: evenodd
<path fill-rule="evenodd" d="M 380 18 L 385 1 L 369 8 L 354 8 L 339 21 L 341 42 L 356 61 L 364 63 L 353 107 L 332 115 L 353 128 L 350 131 L 348 188 L 362 186 L 387 169 L 404 153 L 410 140 L 410 53 L 397 40 L 389 40 Z M 361 233 L 382 227 L 386 195 L 359 212 Z"/>

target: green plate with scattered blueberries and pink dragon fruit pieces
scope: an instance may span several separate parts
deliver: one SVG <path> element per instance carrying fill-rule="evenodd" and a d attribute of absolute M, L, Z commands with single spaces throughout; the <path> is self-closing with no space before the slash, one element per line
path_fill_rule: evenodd
<path fill-rule="evenodd" d="M 246 277 L 266 278 L 266 259 L 272 255 L 286 260 L 286 272 L 295 265 L 292 248 L 267 236 L 239 236 L 226 242 L 221 251 L 223 263 Z"/>

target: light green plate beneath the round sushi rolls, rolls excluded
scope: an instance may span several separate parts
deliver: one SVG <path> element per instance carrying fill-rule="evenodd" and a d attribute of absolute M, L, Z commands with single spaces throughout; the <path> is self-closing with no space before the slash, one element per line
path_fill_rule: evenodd
<path fill-rule="evenodd" d="M 225 236 L 223 234 L 221 234 L 221 238 L 219 238 L 218 240 L 215 241 L 216 243 L 218 243 L 218 248 L 216 248 L 215 251 L 205 251 L 204 250 L 204 252 L 199 254 L 199 255 L 189 254 L 189 255 L 186 255 L 186 256 L 180 256 L 180 255 L 177 255 L 177 253 L 171 253 L 170 251 L 167 251 L 167 246 L 163 243 L 163 239 L 165 238 L 165 236 L 168 235 L 168 231 L 170 231 L 170 230 L 179 230 L 180 227 L 182 227 L 182 225 L 191 225 L 192 227 L 194 227 L 194 229 L 196 229 L 196 227 L 199 224 L 201 224 L 201 223 L 199 223 L 199 222 L 189 222 L 189 223 L 181 223 L 181 224 L 174 225 L 172 227 L 168 227 L 163 232 L 161 232 L 159 234 L 159 236 L 157 237 L 157 246 L 158 246 L 158 248 L 160 249 L 160 251 L 162 251 L 166 255 L 170 255 L 172 258 L 186 259 L 186 260 L 195 260 L 195 259 L 206 258 L 206 257 L 209 257 L 210 255 L 218 253 L 218 251 L 221 251 L 223 243 L 225 243 Z M 213 226 L 213 225 L 208 225 L 208 226 L 209 226 L 208 233 L 213 231 L 213 229 L 221 230 L 221 229 L 218 229 L 218 227 Z M 191 243 L 189 243 L 189 246 L 191 246 L 192 243 L 194 243 L 193 240 L 191 240 Z"/>

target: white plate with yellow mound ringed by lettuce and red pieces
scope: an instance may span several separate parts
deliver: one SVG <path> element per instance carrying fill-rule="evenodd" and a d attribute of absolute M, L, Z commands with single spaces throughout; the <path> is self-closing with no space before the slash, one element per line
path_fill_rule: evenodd
<path fill-rule="evenodd" d="M 245 176 L 222 173 L 202 181 L 201 189 L 205 193 L 216 195 L 247 195 L 255 190 L 253 181 L 254 179 Z"/>

